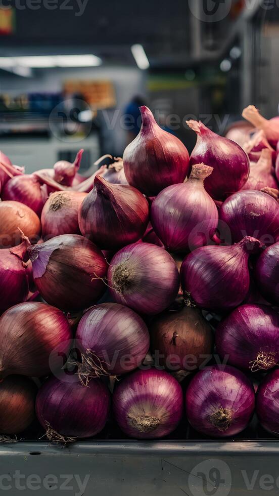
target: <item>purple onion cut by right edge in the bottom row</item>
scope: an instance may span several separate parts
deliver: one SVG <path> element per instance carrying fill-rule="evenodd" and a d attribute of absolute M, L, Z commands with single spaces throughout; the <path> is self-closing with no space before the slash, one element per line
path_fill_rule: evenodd
<path fill-rule="evenodd" d="M 279 436 L 279 369 L 267 374 L 256 395 L 256 413 L 261 425 Z"/>

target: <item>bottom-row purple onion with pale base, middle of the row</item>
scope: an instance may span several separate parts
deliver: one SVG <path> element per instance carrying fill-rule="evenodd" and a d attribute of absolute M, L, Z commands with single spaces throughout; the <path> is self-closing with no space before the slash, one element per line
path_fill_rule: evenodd
<path fill-rule="evenodd" d="M 129 437 L 156 439 L 170 434 L 183 412 L 179 383 L 163 370 L 136 370 L 113 394 L 116 422 Z"/>

